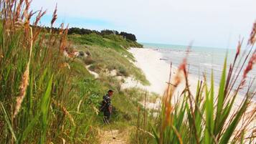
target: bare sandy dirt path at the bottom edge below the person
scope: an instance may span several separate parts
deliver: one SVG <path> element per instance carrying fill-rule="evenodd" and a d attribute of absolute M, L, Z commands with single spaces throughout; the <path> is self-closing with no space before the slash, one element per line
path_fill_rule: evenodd
<path fill-rule="evenodd" d="M 101 144 L 128 144 L 128 135 L 125 133 L 120 133 L 119 130 L 113 130 L 113 136 L 111 131 L 101 131 L 100 132 L 100 143 Z"/>

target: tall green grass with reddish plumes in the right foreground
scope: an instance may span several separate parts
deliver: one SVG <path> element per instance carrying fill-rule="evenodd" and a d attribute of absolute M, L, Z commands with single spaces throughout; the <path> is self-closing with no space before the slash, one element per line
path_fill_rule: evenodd
<path fill-rule="evenodd" d="M 174 76 L 174 82 L 169 82 L 158 116 L 145 120 L 147 116 L 138 112 L 133 143 L 255 143 L 256 107 L 252 102 L 256 94 L 255 77 L 247 80 L 247 74 L 256 63 L 255 29 L 256 23 L 247 49 L 242 54 L 242 42 L 239 42 L 232 64 L 227 65 L 225 58 L 219 87 L 214 86 L 212 73 L 209 85 L 207 77 L 204 77 L 204 81 L 198 81 L 193 93 L 189 87 L 185 58 Z M 242 75 L 240 82 L 237 80 L 239 75 Z M 176 87 L 182 81 L 185 81 L 186 87 L 181 95 L 177 95 Z M 239 83 L 237 87 L 235 82 Z M 242 100 L 239 101 L 242 89 L 247 92 L 240 95 Z"/>

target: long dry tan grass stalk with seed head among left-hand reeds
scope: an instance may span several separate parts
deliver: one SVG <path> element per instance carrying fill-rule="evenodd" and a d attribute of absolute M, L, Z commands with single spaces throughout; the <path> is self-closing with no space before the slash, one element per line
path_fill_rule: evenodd
<path fill-rule="evenodd" d="M 29 65 L 30 59 L 32 54 L 32 47 L 33 47 L 33 31 L 32 27 L 30 27 L 31 32 L 31 43 L 30 43 L 30 52 L 29 52 L 29 62 L 27 62 L 27 68 L 22 76 L 22 84 L 20 85 L 19 96 L 16 98 L 16 106 L 14 110 L 14 117 L 18 114 L 20 108 L 22 107 L 22 101 L 26 95 L 27 86 L 29 85 Z"/>

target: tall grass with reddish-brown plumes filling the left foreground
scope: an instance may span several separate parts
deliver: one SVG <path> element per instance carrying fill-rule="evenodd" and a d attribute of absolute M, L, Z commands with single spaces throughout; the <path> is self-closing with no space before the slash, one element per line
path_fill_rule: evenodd
<path fill-rule="evenodd" d="M 45 11 L 29 6 L 28 0 L 0 1 L 0 143 L 86 143 L 95 138 L 92 108 L 83 105 L 91 91 L 77 93 L 87 87 L 75 87 L 74 80 L 90 76 L 63 57 L 64 25 L 44 32 L 37 24 Z M 56 19 L 57 9 L 51 27 Z"/>

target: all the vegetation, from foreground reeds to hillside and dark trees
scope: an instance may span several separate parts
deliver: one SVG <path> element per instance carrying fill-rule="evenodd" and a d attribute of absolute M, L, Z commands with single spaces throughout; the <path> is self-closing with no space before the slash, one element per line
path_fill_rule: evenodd
<path fill-rule="evenodd" d="M 54 28 L 57 9 L 50 27 L 39 27 L 45 12 L 34 13 L 29 6 L 28 0 L 0 0 L 0 143 L 100 143 L 110 128 L 98 107 L 109 89 L 115 92 L 110 127 L 125 133 L 127 143 L 255 142 L 250 126 L 256 117 L 250 105 L 255 87 L 247 74 L 256 62 L 256 24 L 247 51 L 241 52 L 240 42 L 234 62 L 224 62 L 219 87 L 212 74 L 192 93 L 185 57 L 170 75 L 174 82 L 169 81 L 161 109 L 147 110 L 146 102 L 156 102 L 158 95 L 122 89 L 128 77 L 150 85 L 128 52 L 142 47 L 133 34 Z M 243 79 L 234 87 L 237 75 Z M 181 81 L 186 88 L 174 95 Z M 241 89 L 247 92 L 236 106 Z"/>

